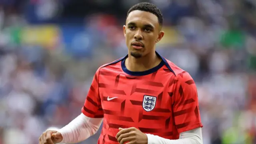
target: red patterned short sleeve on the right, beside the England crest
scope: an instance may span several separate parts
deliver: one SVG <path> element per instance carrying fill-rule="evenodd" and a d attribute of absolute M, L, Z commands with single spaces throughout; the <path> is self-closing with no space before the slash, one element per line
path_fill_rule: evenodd
<path fill-rule="evenodd" d="M 176 77 L 172 106 L 179 133 L 202 127 L 196 84 L 188 72 Z"/>

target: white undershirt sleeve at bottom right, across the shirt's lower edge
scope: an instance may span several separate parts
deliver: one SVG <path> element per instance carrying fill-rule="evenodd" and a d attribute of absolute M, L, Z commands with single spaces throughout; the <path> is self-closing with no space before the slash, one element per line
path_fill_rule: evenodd
<path fill-rule="evenodd" d="M 169 140 L 152 134 L 146 135 L 148 136 L 148 144 L 203 144 L 201 127 L 180 133 L 178 140 Z"/>

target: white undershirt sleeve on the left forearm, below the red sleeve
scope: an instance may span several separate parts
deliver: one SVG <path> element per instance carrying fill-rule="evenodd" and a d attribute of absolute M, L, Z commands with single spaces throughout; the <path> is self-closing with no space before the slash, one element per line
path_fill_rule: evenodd
<path fill-rule="evenodd" d="M 61 144 L 74 144 L 86 140 L 94 135 L 102 123 L 103 118 L 90 118 L 81 113 L 58 132 L 62 134 Z"/>

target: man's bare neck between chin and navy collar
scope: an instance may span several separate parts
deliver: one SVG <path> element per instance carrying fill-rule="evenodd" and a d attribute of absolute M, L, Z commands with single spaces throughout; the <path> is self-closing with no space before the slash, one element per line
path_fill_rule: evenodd
<path fill-rule="evenodd" d="M 161 58 L 158 58 L 155 52 L 147 54 L 141 58 L 134 58 L 129 53 L 128 58 L 125 60 L 125 66 L 132 72 L 143 72 L 158 66 L 161 61 Z"/>

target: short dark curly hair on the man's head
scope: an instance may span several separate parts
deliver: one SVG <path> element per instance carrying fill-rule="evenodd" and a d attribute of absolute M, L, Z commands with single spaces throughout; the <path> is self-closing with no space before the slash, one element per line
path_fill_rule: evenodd
<path fill-rule="evenodd" d="M 157 18 L 158 18 L 158 22 L 159 22 L 160 26 L 163 25 L 163 15 L 162 15 L 162 12 L 154 4 L 149 3 L 149 2 L 141 2 L 141 3 L 135 4 L 134 6 L 132 6 L 128 10 L 127 17 L 130 14 L 130 12 L 132 12 L 134 10 L 141 10 L 141 11 L 144 11 L 144 12 L 150 12 L 150 13 L 156 15 Z"/>

